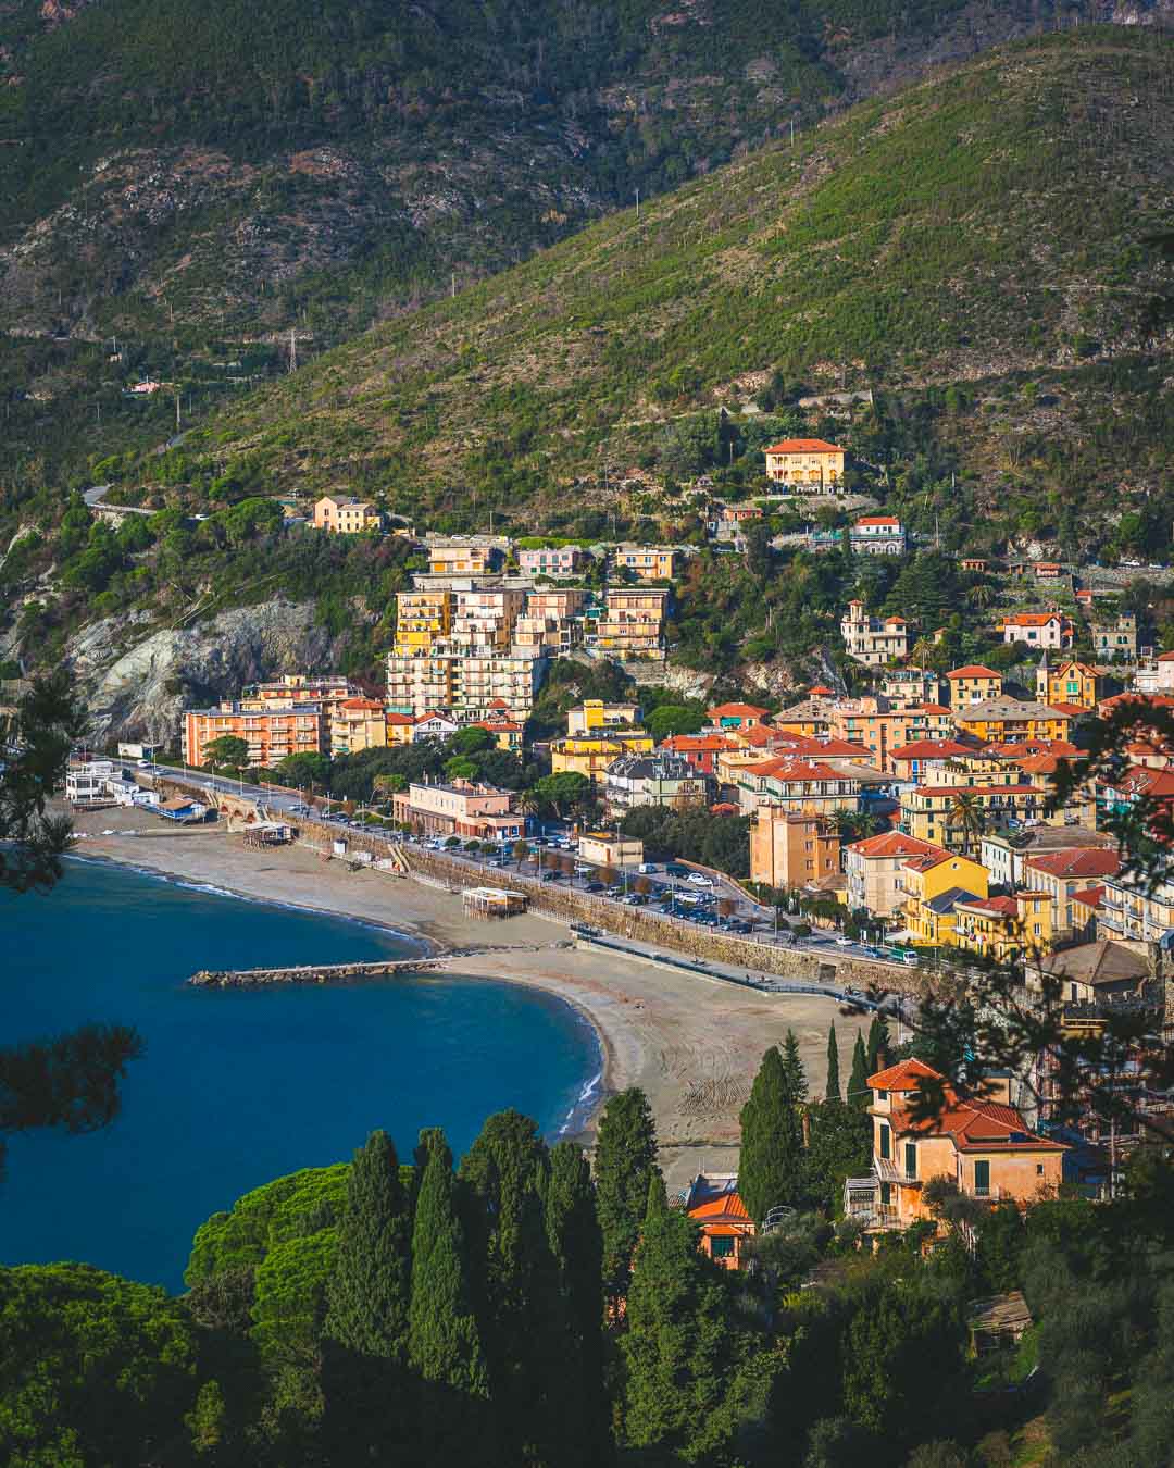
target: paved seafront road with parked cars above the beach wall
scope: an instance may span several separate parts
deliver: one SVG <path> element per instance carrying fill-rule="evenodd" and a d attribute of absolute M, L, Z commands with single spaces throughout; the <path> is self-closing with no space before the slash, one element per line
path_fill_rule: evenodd
<path fill-rule="evenodd" d="M 186 781 L 189 785 L 201 787 L 204 790 L 220 790 L 227 794 L 241 794 L 258 804 L 266 807 L 266 812 L 273 818 L 298 819 L 305 816 L 307 807 L 302 797 L 296 793 L 289 793 L 277 790 L 270 785 L 255 785 L 248 781 L 241 780 L 226 780 L 222 775 L 208 775 L 203 771 L 182 769 L 178 766 L 153 766 L 157 772 L 173 775 L 179 780 Z M 145 771 L 144 771 L 145 772 Z M 333 802 L 335 806 L 340 806 L 340 802 Z M 338 828 L 339 837 L 343 837 L 346 831 L 358 829 L 364 835 L 368 835 L 379 841 L 383 832 L 373 826 L 364 826 L 360 821 L 349 821 L 342 816 L 340 810 L 336 815 L 323 812 L 321 809 L 316 812 L 317 818 L 323 821 L 324 825 Z M 555 846 L 555 841 L 565 837 L 565 829 L 552 822 L 543 825 L 543 835 L 533 838 L 528 844 L 534 851 L 534 863 L 518 863 L 512 856 L 487 856 L 483 853 L 465 851 L 459 847 L 445 847 L 443 844 L 434 846 L 430 840 L 417 840 L 415 837 L 405 837 L 401 832 L 387 834 L 386 840 L 390 844 L 395 841 L 398 846 L 411 849 L 417 846 L 423 850 L 440 850 L 449 860 L 458 862 L 470 871 L 477 871 L 481 879 L 492 881 L 493 873 L 499 871 L 508 871 L 515 875 L 530 875 L 539 879 L 544 873 L 553 869 L 552 857 L 559 859 L 574 854 L 562 846 Z M 590 868 L 591 863 L 581 862 L 575 857 L 578 865 Z M 679 865 L 679 863 L 668 863 Z M 569 887 L 574 891 L 581 891 L 591 897 L 594 901 L 608 904 L 612 907 L 618 906 L 635 906 L 630 898 L 635 895 L 634 887 L 640 875 L 646 875 L 652 887 L 649 893 L 647 906 L 652 912 L 663 913 L 666 918 L 694 925 L 694 918 L 701 913 L 715 913 L 716 904 L 721 898 L 725 898 L 732 904 L 728 922 L 735 925 L 732 931 L 741 937 L 750 938 L 754 942 L 779 945 L 782 948 L 797 948 L 803 953 L 814 953 L 823 956 L 829 960 L 832 959 L 863 959 L 870 963 L 883 963 L 885 959 L 879 957 L 876 950 L 869 948 L 860 942 L 850 942 L 848 940 L 838 937 L 832 932 L 814 931 L 806 938 L 795 938 L 792 934 L 784 931 L 776 934 L 773 931 L 775 910 L 772 907 L 765 907 L 759 903 L 747 901 L 745 897 L 729 882 L 722 882 L 721 879 L 712 879 L 710 887 L 703 887 L 700 882 L 693 882 L 688 876 L 674 876 L 665 871 L 662 863 L 656 863 L 656 871 L 652 873 L 640 873 L 634 868 L 627 868 L 621 872 L 621 881 L 615 888 L 609 891 L 597 890 L 590 891 L 588 885 L 597 881 L 597 869 L 586 871 L 575 875 L 565 875 L 559 872 L 558 878 L 549 879 L 552 885 Z M 712 923 L 704 923 L 699 926 L 713 926 Z M 731 931 L 723 926 L 723 931 Z M 891 967 L 900 969 L 900 963 L 889 963 Z"/>

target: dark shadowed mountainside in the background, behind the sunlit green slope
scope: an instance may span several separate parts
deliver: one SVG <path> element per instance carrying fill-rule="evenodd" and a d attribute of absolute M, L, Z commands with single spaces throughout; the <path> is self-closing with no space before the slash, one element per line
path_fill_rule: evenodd
<path fill-rule="evenodd" d="M 13 0 L 0 432 L 68 473 L 926 65 L 1168 0 Z M 251 357 L 251 361 L 242 358 Z M 128 401 L 141 376 L 167 404 Z"/>

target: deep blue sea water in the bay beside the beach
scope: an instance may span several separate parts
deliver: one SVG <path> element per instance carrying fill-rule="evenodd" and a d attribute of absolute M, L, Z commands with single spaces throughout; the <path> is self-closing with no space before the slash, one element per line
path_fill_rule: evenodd
<path fill-rule="evenodd" d="M 147 1042 L 119 1119 L 9 1142 L 0 1262 L 81 1260 L 179 1289 L 192 1233 L 241 1193 L 348 1158 L 374 1127 L 411 1155 L 443 1126 L 456 1157 L 502 1107 L 553 1138 L 599 1083 L 566 1004 L 487 979 L 192 989 L 197 969 L 409 956 L 348 919 L 70 862 L 47 897 L 0 894 L 0 1044 L 87 1020 Z"/>

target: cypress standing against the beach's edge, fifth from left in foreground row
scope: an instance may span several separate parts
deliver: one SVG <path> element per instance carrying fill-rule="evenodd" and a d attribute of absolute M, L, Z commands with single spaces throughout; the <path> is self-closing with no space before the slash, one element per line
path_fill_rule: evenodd
<path fill-rule="evenodd" d="M 603 1108 L 596 1142 L 596 1205 L 603 1230 L 603 1279 L 624 1295 L 656 1170 L 656 1124 L 649 1098 L 637 1086 Z"/>

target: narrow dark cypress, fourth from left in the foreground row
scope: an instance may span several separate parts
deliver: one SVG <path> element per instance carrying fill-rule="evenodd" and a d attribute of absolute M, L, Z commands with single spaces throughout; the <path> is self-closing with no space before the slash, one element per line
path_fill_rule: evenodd
<path fill-rule="evenodd" d="M 660 1174 L 656 1173 L 655 1177 Z M 581 1147 L 550 1151 L 546 1230 L 559 1270 L 566 1340 L 561 1351 L 566 1450 L 561 1462 L 594 1468 L 612 1456 L 603 1384 L 603 1235 Z"/>

